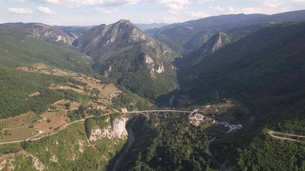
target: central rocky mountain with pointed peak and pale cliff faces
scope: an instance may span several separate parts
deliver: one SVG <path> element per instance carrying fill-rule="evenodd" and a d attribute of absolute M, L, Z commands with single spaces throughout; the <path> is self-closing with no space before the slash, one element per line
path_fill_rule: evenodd
<path fill-rule="evenodd" d="M 179 55 L 147 36 L 129 20 L 87 30 L 74 43 L 96 62 L 95 70 L 151 99 L 176 89 Z"/>

